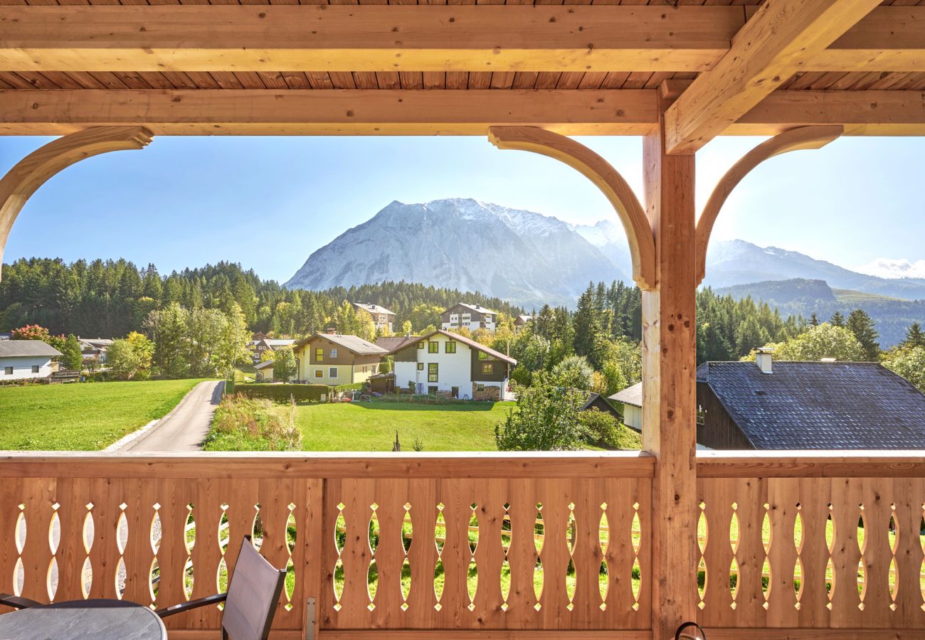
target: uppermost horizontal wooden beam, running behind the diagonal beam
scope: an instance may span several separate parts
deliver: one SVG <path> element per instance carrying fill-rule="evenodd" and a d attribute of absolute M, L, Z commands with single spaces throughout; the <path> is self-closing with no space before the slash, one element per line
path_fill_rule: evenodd
<path fill-rule="evenodd" d="M 855 3 L 803 2 L 844 5 L 845 14 Z M 775 18 L 789 18 L 781 4 L 771 3 Z M 716 66 L 734 38 L 743 46 L 736 33 L 751 9 L 0 6 L 0 69 L 692 72 Z M 810 44 L 808 70 L 922 71 L 925 7 L 881 6 L 829 49 Z"/>

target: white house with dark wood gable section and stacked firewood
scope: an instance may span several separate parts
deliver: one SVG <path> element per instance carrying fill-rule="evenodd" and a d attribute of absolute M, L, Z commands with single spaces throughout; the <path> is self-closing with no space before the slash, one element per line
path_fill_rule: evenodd
<path fill-rule="evenodd" d="M 395 386 L 415 393 L 471 400 L 512 400 L 508 390 L 513 358 L 471 338 L 438 329 L 391 354 Z"/>

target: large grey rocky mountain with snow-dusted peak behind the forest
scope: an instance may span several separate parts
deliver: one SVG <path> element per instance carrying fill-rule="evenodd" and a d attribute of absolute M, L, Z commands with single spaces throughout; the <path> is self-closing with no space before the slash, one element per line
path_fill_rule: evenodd
<path fill-rule="evenodd" d="M 588 281 L 628 277 L 558 218 L 453 198 L 388 204 L 312 253 L 285 286 L 406 280 L 478 290 L 529 307 L 572 305 Z"/>

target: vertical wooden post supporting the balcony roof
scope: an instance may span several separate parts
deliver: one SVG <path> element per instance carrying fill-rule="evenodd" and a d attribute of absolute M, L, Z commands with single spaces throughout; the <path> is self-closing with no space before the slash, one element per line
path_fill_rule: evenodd
<path fill-rule="evenodd" d="M 664 113 L 664 107 L 660 108 Z M 643 449 L 652 484 L 652 636 L 697 617 L 697 328 L 694 156 L 665 153 L 661 121 L 645 139 L 646 208 L 655 290 L 642 292 Z"/>

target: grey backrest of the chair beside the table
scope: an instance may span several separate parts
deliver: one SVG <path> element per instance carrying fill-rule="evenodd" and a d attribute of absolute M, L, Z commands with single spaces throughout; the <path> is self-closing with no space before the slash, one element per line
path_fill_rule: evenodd
<path fill-rule="evenodd" d="M 279 570 L 257 553 L 251 536 L 241 541 L 238 561 L 228 583 L 222 631 L 231 640 L 266 640 L 277 610 L 286 570 Z"/>

